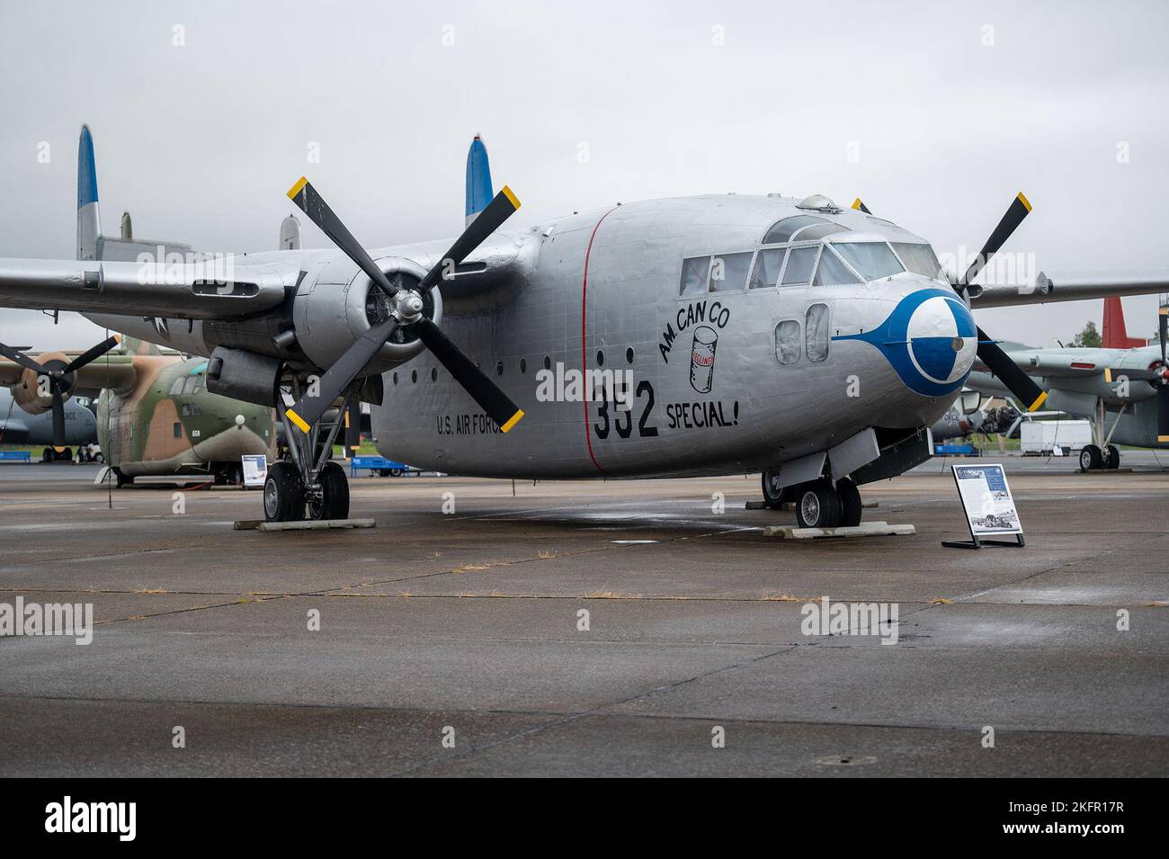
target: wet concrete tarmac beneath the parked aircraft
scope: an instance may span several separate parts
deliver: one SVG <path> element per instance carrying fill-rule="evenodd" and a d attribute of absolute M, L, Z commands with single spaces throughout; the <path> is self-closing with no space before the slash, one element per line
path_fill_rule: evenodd
<path fill-rule="evenodd" d="M 1169 774 L 1169 472 L 987 462 L 1024 548 L 941 547 L 942 460 L 862 487 L 915 535 L 800 542 L 758 474 L 361 477 L 375 528 L 258 533 L 258 491 L 0 465 L 0 604 L 96 615 L 0 638 L 0 775 Z M 825 595 L 897 643 L 804 635 Z"/>

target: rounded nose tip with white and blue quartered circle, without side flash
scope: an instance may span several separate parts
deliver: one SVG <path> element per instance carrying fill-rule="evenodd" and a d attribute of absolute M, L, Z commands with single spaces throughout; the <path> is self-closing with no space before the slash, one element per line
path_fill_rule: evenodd
<path fill-rule="evenodd" d="M 974 366 L 977 327 L 962 299 L 933 291 L 909 317 L 906 345 L 918 373 L 936 385 L 952 385 Z"/>

